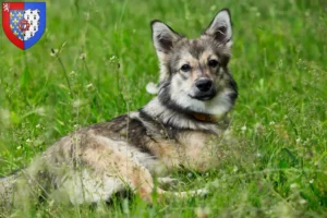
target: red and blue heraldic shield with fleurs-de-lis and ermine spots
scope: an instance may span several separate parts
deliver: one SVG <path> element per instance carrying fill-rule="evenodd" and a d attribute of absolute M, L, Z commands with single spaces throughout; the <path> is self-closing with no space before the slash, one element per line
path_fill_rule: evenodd
<path fill-rule="evenodd" d="M 11 43 L 26 50 L 46 29 L 46 2 L 2 2 L 2 28 Z"/>

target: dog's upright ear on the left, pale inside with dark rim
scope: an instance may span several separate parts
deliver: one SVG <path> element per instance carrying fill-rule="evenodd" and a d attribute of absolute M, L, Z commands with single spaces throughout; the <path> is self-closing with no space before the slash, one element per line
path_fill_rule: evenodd
<path fill-rule="evenodd" d="M 175 33 L 168 25 L 164 24 L 160 21 L 152 22 L 153 29 L 153 40 L 158 53 L 159 59 L 162 60 L 165 55 L 169 53 L 174 46 L 174 43 L 178 41 L 182 36 Z"/>

